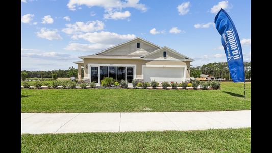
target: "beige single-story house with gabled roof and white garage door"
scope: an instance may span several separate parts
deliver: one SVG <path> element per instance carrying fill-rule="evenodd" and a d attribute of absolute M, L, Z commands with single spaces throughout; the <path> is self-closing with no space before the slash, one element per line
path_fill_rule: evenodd
<path fill-rule="evenodd" d="M 169 48 L 160 47 L 140 37 L 118 44 L 93 55 L 80 56 L 78 78 L 84 67 L 84 79 L 100 83 L 104 77 L 131 83 L 140 79 L 159 83 L 182 82 L 190 78 L 193 59 Z"/>

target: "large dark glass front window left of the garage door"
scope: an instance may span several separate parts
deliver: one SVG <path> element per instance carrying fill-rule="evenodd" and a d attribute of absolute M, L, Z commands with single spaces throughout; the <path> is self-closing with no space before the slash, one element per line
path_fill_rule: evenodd
<path fill-rule="evenodd" d="M 91 66 L 91 82 L 101 83 L 105 77 L 112 77 L 114 81 L 125 80 L 131 83 L 134 78 L 134 67 L 126 66 Z"/>

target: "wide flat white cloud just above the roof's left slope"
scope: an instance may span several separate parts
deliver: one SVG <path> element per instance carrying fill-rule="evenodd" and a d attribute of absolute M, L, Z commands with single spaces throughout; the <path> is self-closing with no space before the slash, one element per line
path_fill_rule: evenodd
<path fill-rule="evenodd" d="M 73 35 L 72 39 L 84 39 L 94 44 L 108 44 L 116 45 L 121 42 L 125 42 L 135 38 L 134 34 L 120 35 L 113 32 L 101 31 L 93 33 L 85 33 L 79 35 Z"/>

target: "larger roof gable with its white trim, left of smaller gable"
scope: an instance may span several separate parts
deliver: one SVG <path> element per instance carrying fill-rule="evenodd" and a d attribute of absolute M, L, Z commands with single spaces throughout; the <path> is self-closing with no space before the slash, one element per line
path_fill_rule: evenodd
<path fill-rule="evenodd" d="M 142 43 L 140 48 L 136 48 L 136 42 Z M 135 43 L 135 44 L 133 44 Z M 153 44 L 147 40 L 140 37 L 134 38 L 127 42 L 118 44 L 101 52 L 95 53 L 93 55 L 137 55 L 142 56 L 159 49 L 160 46 Z"/>

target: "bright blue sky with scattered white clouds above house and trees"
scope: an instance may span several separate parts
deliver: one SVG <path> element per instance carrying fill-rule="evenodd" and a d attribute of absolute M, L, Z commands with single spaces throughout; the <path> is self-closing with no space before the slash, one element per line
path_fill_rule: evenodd
<path fill-rule="evenodd" d="M 135 37 L 168 46 L 195 61 L 226 62 L 214 27 L 220 8 L 238 31 L 244 61 L 251 53 L 251 2 L 138 0 L 22 0 L 21 70 L 77 67 L 91 55 Z"/>

